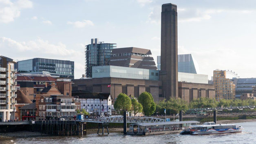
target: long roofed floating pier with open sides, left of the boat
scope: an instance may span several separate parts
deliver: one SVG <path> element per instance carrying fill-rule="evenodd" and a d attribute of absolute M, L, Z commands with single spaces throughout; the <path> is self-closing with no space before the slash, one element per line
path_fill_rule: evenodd
<path fill-rule="evenodd" d="M 128 135 L 157 135 L 164 133 L 180 133 L 182 129 L 199 123 L 198 121 L 178 121 L 178 122 L 152 122 L 130 124 Z"/>

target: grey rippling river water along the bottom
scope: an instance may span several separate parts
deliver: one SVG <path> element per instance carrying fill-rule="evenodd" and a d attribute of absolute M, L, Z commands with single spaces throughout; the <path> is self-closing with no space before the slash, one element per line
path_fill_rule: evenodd
<path fill-rule="evenodd" d="M 0 138 L 0 144 L 256 144 L 256 122 L 237 123 L 245 129 L 242 133 L 214 135 L 109 135 L 88 134 L 83 137 L 22 137 Z"/>

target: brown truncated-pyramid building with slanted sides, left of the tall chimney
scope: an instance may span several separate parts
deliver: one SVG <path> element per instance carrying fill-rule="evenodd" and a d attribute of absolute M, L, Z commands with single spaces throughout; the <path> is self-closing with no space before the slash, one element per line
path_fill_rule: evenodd
<path fill-rule="evenodd" d="M 143 48 L 115 48 L 111 52 L 109 65 L 157 70 L 152 53 Z"/>

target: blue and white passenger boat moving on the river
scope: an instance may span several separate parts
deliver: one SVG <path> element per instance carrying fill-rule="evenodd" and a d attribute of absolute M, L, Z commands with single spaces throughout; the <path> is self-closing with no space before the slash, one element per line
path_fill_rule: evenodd
<path fill-rule="evenodd" d="M 203 125 L 191 125 L 180 134 L 207 135 L 219 133 L 241 133 L 244 128 L 236 124 L 215 124 L 215 122 L 205 122 Z"/>

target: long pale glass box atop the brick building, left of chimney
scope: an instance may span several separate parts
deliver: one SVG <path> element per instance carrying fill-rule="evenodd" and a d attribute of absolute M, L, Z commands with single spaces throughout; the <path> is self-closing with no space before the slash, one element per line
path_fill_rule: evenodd
<path fill-rule="evenodd" d="M 92 78 L 115 77 L 125 79 L 159 80 L 159 70 L 129 68 L 114 65 L 93 66 Z"/>

